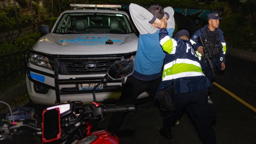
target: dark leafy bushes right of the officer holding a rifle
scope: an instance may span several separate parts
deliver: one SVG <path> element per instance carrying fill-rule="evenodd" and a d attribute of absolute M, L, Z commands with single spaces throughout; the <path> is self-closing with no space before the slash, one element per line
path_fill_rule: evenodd
<path fill-rule="evenodd" d="M 227 6 L 224 9 L 224 15 L 225 17 L 220 22 L 220 28 L 224 32 L 228 46 L 248 46 L 255 43 L 256 18 L 253 16 L 256 15 L 255 2 L 240 3 L 236 11 Z"/>

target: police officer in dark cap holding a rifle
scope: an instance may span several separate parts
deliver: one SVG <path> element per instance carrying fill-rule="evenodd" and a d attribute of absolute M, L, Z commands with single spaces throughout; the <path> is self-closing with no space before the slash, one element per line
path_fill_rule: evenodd
<path fill-rule="evenodd" d="M 197 39 L 199 36 L 205 40 L 205 47 L 208 47 L 210 52 L 210 59 L 212 61 L 213 68 L 216 67 L 218 70 L 225 69 L 225 53 L 226 53 L 226 43 L 224 41 L 224 36 L 222 30 L 219 28 L 220 20 L 218 13 L 210 13 L 207 15 L 208 25 L 203 28 L 197 30 L 192 37 L 190 38 L 190 42 L 194 45 L 196 54 L 200 60 L 200 64 L 202 66 L 202 70 L 204 75 L 211 81 L 214 81 L 214 75 L 210 66 L 206 59 L 202 55 L 204 55 L 203 47 Z"/>

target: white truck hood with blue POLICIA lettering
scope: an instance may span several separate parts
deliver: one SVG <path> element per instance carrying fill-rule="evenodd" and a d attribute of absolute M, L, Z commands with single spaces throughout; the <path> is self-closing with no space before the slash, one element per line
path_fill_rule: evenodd
<path fill-rule="evenodd" d="M 111 40 L 113 44 L 106 44 Z M 132 34 L 54 34 L 42 36 L 33 50 L 47 54 L 94 55 L 137 51 L 138 36 Z"/>

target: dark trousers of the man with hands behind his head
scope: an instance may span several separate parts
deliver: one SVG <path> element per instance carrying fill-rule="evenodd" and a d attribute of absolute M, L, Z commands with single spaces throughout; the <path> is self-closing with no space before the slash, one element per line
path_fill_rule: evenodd
<path fill-rule="evenodd" d="M 116 106 L 129 105 L 133 100 L 137 99 L 141 92 L 147 91 L 150 96 L 154 97 L 158 89 L 159 84 L 162 81 L 162 76 L 157 79 L 143 81 L 139 80 L 133 76 L 128 76 L 126 82 L 122 88 L 122 94 L 116 102 Z M 117 133 L 119 127 L 121 126 L 124 115 L 126 113 L 113 113 L 109 124 L 108 131 L 114 134 Z"/>

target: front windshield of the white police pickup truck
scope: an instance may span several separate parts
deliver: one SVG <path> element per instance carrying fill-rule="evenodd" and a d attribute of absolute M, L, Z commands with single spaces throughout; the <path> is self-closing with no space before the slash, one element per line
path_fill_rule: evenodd
<path fill-rule="evenodd" d="M 54 30 L 58 34 L 74 33 L 132 33 L 126 16 L 113 13 L 66 13 Z"/>

